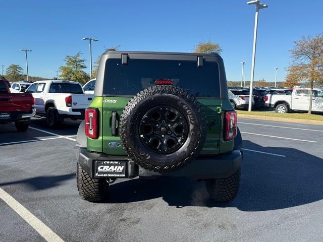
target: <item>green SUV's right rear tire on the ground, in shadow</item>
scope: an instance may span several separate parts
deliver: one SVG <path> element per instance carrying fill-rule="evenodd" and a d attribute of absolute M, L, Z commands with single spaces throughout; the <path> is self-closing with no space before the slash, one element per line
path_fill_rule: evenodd
<path fill-rule="evenodd" d="M 237 196 L 240 186 L 240 168 L 227 178 L 205 179 L 206 190 L 216 202 L 230 202 Z"/>

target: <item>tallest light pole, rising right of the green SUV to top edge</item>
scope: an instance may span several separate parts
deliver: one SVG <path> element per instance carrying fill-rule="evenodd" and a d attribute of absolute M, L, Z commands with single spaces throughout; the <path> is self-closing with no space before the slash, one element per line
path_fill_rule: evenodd
<path fill-rule="evenodd" d="M 256 15 L 254 19 L 254 32 L 253 32 L 253 47 L 252 47 L 252 62 L 251 62 L 251 78 L 250 78 L 250 93 L 249 97 L 252 98 L 253 76 L 254 76 L 254 62 L 256 57 L 256 43 L 257 43 L 257 29 L 258 29 L 258 12 L 259 9 L 268 8 L 268 5 L 260 4 L 260 1 L 254 0 L 247 3 L 248 5 L 256 5 Z M 248 111 L 251 111 L 252 102 L 249 102 Z"/>

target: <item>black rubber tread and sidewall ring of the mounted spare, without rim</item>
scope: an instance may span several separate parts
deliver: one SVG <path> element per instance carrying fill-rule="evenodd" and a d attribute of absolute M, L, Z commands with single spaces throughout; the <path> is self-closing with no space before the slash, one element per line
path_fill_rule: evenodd
<path fill-rule="evenodd" d="M 149 149 L 139 133 L 143 118 L 156 107 L 174 108 L 186 120 L 187 137 L 170 153 Z M 119 134 L 123 148 L 132 160 L 145 169 L 164 173 L 180 169 L 198 156 L 206 139 L 206 117 L 199 102 L 184 89 L 172 85 L 151 86 L 128 102 L 121 115 Z"/>

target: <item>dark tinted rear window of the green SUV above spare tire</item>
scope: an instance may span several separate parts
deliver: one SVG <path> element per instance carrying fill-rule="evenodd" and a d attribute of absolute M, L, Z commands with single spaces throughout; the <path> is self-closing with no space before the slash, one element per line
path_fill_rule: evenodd
<path fill-rule="evenodd" d="M 204 62 L 198 68 L 193 61 L 108 59 L 105 64 L 103 94 L 133 96 L 154 85 L 157 79 L 172 80 L 195 97 L 220 97 L 219 66 Z"/>

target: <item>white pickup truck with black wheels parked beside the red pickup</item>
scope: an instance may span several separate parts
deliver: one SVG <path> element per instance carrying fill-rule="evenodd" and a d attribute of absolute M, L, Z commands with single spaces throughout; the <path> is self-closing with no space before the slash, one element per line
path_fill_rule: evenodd
<path fill-rule="evenodd" d="M 31 84 L 26 93 L 35 98 L 37 116 L 45 116 L 49 127 L 56 127 L 64 118 L 83 119 L 84 111 L 93 94 L 84 94 L 78 82 L 37 81 Z"/>

